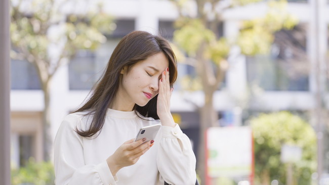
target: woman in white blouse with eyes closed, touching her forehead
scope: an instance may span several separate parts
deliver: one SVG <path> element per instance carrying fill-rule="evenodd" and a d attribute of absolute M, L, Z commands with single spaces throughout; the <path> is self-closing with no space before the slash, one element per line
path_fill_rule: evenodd
<path fill-rule="evenodd" d="M 189 138 L 170 112 L 176 78 L 167 40 L 143 31 L 122 38 L 91 98 L 57 132 L 56 184 L 195 184 Z M 135 142 L 139 128 L 157 123 L 154 141 Z"/>

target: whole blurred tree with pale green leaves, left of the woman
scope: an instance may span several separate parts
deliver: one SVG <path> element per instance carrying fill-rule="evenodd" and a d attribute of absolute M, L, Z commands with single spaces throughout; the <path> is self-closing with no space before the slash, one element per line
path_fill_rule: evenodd
<path fill-rule="evenodd" d="M 72 1 L 13 1 L 11 10 L 11 57 L 26 60 L 35 67 L 42 90 L 44 158 L 50 157 L 50 87 L 57 70 L 67 64 L 78 50 L 94 50 L 112 31 L 112 17 L 101 5 L 95 11 L 69 13 L 63 10 Z M 81 2 L 76 2 L 81 4 Z M 71 4 L 72 6 L 72 4 Z M 73 5 L 74 6 L 74 5 Z M 54 54 L 56 53 L 56 54 Z"/>

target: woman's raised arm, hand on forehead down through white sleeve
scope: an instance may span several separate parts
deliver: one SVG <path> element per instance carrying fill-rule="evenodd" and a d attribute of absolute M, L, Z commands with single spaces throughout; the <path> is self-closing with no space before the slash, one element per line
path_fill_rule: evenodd
<path fill-rule="evenodd" d="M 157 114 L 162 124 L 162 138 L 156 157 L 158 170 L 169 184 L 195 184 L 196 160 L 190 140 L 174 122 L 170 112 L 172 91 L 167 68 L 162 72 L 161 80 L 159 80 L 157 98 Z"/>

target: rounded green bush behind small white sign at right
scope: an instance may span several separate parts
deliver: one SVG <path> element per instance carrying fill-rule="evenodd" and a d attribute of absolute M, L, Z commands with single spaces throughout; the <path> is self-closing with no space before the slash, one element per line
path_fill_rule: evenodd
<path fill-rule="evenodd" d="M 262 181 L 269 175 L 270 180 L 285 183 L 286 164 L 280 161 L 283 144 L 295 145 L 302 149 L 301 161 L 294 164 L 297 184 L 310 184 L 310 177 L 316 167 L 316 135 L 313 128 L 289 112 L 261 114 L 252 118 L 255 142 L 256 179 Z"/>

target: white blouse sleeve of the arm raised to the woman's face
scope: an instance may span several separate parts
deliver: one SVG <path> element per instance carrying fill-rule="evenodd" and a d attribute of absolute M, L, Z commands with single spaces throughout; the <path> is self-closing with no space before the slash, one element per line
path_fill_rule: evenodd
<path fill-rule="evenodd" d="M 195 156 L 187 135 L 175 127 L 162 126 L 156 161 L 162 178 L 169 184 L 195 184 Z"/>

